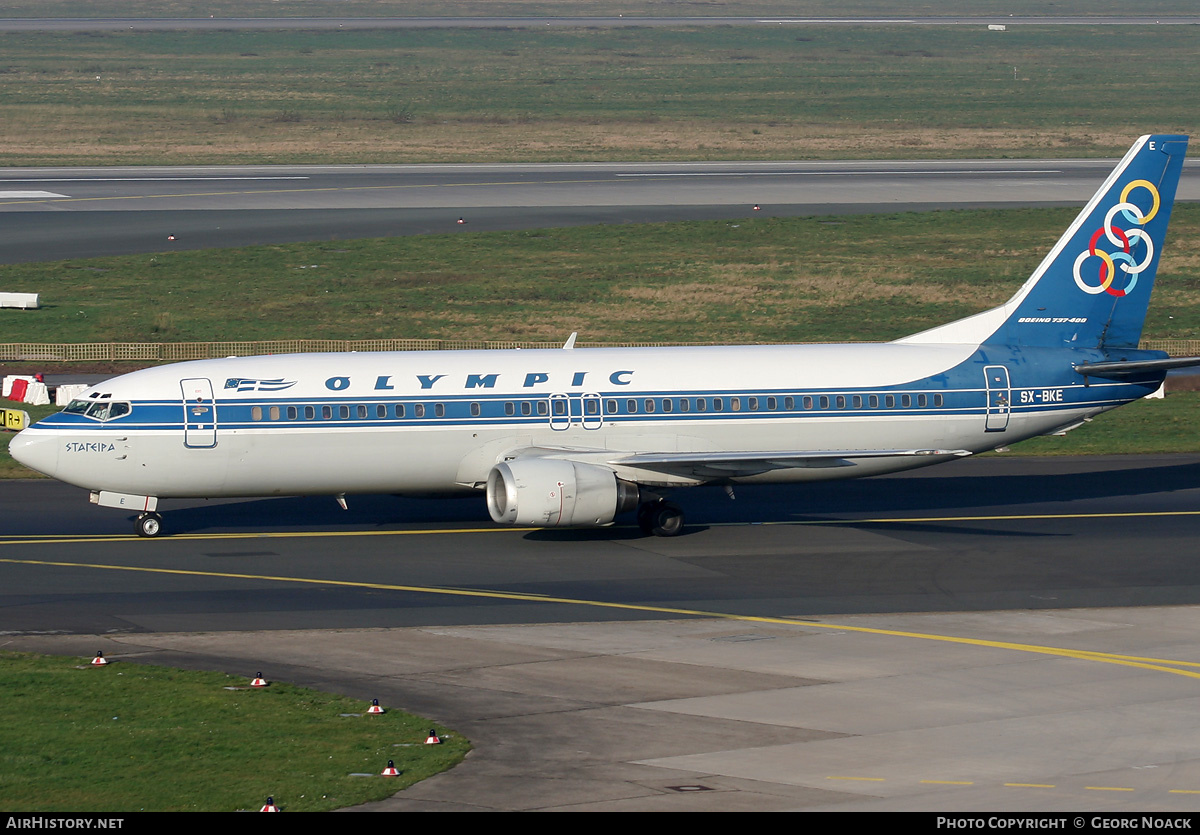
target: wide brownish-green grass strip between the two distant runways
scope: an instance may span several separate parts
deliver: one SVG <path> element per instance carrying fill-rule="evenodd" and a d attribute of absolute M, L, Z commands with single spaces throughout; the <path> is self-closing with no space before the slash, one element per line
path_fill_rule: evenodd
<path fill-rule="evenodd" d="M 1120 155 L 1198 70 L 1196 26 L 12 32 L 0 164 Z"/>

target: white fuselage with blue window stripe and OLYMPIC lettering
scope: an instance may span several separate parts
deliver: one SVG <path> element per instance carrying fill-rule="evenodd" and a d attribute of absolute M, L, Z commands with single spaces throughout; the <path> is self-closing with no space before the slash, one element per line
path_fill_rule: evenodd
<path fill-rule="evenodd" d="M 977 452 L 1145 394 L 1121 400 L 1109 385 L 1110 396 L 1080 401 L 1070 391 L 1084 392 L 1079 379 L 1054 385 L 1057 394 L 1043 402 L 1044 380 L 1012 380 L 1001 395 L 1006 408 L 989 409 L 982 372 L 948 377 L 976 352 L 892 343 L 205 360 L 95 386 L 85 398 L 128 403 L 127 413 L 56 415 L 23 433 L 17 455 L 80 487 L 154 497 L 449 493 L 481 487 L 505 453 L 528 447 L 575 457 Z M 851 477 L 943 459 L 875 458 L 733 480 Z M 713 480 L 612 468 L 643 485 Z"/>

